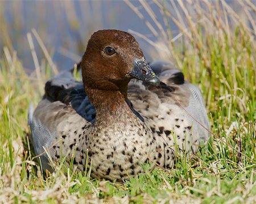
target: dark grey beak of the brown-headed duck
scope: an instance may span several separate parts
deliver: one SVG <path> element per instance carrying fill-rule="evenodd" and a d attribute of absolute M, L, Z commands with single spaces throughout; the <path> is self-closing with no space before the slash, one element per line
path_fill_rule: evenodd
<path fill-rule="evenodd" d="M 150 66 L 148 66 L 144 57 L 142 59 L 134 59 L 133 70 L 131 70 L 129 75 L 133 78 L 151 83 L 154 86 L 158 86 L 160 84 L 160 79 L 155 75 Z"/>

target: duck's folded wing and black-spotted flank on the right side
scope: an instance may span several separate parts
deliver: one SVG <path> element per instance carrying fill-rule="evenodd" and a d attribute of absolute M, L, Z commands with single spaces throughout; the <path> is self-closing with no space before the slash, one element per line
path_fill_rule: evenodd
<path fill-rule="evenodd" d="M 209 138 L 209 122 L 203 96 L 198 87 L 185 82 L 183 73 L 165 61 L 150 63 L 159 76 L 160 86 L 132 80 L 128 98 L 152 131 L 174 144 L 192 150 Z M 176 142 L 175 142 L 176 141 Z"/>

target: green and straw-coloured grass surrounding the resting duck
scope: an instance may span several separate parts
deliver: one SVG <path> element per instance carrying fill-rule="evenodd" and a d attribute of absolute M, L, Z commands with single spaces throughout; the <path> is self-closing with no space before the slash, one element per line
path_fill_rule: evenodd
<path fill-rule="evenodd" d="M 28 74 L 6 46 L 0 59 L 0 202 L 256 202 L 255 6 L 244 2 L 242 19 L 225 2 L 195 3 L 188 11 L 178 1 L 185 14 L 179 18 L 168 5 L 155 3 L 166 27 L 158 27 L 163 37 L 154 42 L 157 52 L 152 54 L 171 56 L 186 78 L 199 84 L 212 124 L 209 143 L 197 155 L 177 157 L 174 169 L 157 168 L 123 184 L 95 180 L 72 169 L 64 173 L 61 165 L 43 176 L 26 145 L 27 109 L 30 101 L 42 96 L 51 62 L 37 65 L 35 60 L 37 69 Z M 142 6 L 148 8 L 147 2 Z M 175 39 L 170 37 L 170 20 L 180 29 Z"/>

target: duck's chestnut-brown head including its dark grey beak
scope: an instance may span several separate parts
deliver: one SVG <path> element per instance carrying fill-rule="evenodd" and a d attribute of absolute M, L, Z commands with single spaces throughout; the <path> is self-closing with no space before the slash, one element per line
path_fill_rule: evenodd
<path fill-rule="evenodd" d="M 82 57 L 85 88 L 119 90 L 137 78 L 158 86 L 159 78 L 148 66 L 141 47 L 127 32 L 101 30 L 93 33 Z"/>

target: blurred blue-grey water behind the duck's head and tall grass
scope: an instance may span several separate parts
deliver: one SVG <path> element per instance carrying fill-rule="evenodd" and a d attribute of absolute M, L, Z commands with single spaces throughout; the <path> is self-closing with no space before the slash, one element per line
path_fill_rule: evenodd
<path fill-rule="evenodd" d="M 236 1 L 227 2 L 236 11 L 240 10 Z M 122 31 L 131 29 L 152 41 L 160 39 L 161 35 L 154 36 L 148 29 L 146 21 L 158 30 L 141 3 L 138 1 L 131 1 L 131 3 L 141 12 L 143 19 L 139 18 L 125 2 L 117 0 L 2 1 L 0 2 L 1 24 L 4 24 L 3 28 L 10 37 L 11 45 L 17 51 L 17 56 L 27 70 L 35 68 L 27 40 L 27 33 L 31 32 L 32 28 L 39 33 L 58 69 L 63 70 L 69 69 L 80 59 L 90 35 L 98 29 L 120 29 Z M 153 1 L 147 1 L 147 3 L 154 11 L 159 23 L 166 28 L 159 7 Z M 168 2 L 167 6 L 175 16 L 175 9 Z M 187 9 L 189 10 L 189 7 Z M 239 12 L 237 13 L 239 14 Z M 181 12 L 182 14 L 183 12 Z M 174 36 L 179 33 L 176 25 L 171 21 L 170 27 Z M 154 46 L 148 44 L 141 37 L 135 37 L 141 44 L 147 60 L 150 61 L 154 58 L 150 54 L 150 50 L 154 49 Z M 41 63 L 41 60 L 45 58 L 44 54 L 35 37 L 33 40 L 39 63 Z M 1 40 L 1 37 L 0 46 L 1 50 L 5 46 L 5 40 Z"/>

